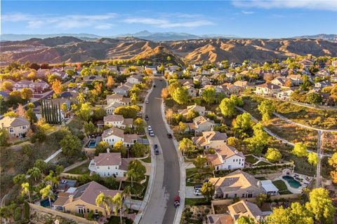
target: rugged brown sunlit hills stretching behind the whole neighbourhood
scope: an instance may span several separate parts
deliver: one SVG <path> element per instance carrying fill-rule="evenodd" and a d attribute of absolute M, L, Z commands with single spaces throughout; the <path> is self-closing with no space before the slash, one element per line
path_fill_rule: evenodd
<path fill-rule="evenodd" d="M 84 41 L 72 36 L 32 38 L 0 43 L 1 65 L 10 62 L 84 62 L 95 59 L 161 59 L 263 62 L 294 55 L 337 56 L 337 43 L 322 39 L 225 39 L 152 42 L 140 38 L 98 38 Z"/>

